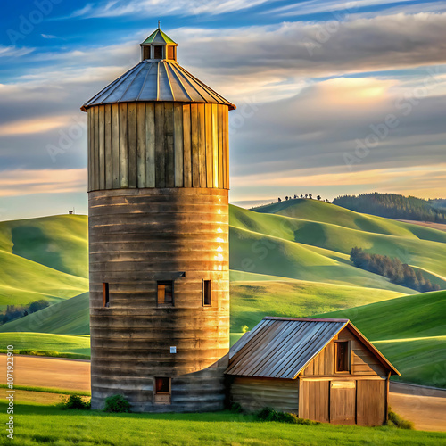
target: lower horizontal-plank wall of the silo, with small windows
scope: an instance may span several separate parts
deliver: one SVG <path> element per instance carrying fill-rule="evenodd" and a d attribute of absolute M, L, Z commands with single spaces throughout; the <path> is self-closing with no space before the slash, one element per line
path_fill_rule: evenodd
<path fill-rule="evenodd" d="M 90 192 L 88 222 L 92 407 L 122 393 L 136 411 L 222 409 L 229 348 L 227 190 Z M 178 277 L 181 272 L 186 277 Z M 175 305 L 157 307 L 156 281 L 173 277 Z M 212 281 L 211 307 L 202 306 L 202 279 Z M 110 308 L 103 308 L 103 282 Z M 156 376 L 172 377 L 170 405 L 153 404 Z"/>

